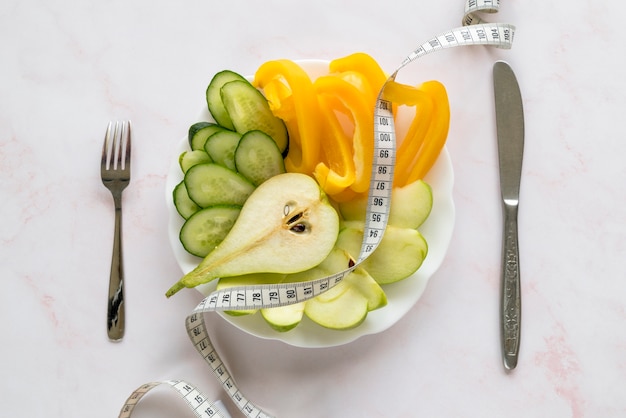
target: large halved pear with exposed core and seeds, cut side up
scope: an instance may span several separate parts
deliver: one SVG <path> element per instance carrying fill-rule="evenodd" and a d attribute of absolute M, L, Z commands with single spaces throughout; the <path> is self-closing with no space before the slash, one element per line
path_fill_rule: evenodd
<path fill-rule="evenodd" d="M 254 190 L 226 238 L 166 296 L 219 277 L 310 269 L 330 253 L 338 232 L 339 216 L 312 177 L 279 174 Z"/>

